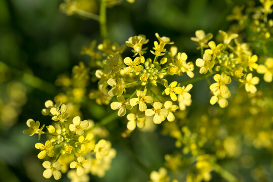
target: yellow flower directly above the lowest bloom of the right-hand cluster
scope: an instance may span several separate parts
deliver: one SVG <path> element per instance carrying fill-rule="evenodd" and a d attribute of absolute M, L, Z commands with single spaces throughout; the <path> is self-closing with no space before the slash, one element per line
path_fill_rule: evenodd
<path fill-rule="evenodd" d="M 213 79 L 217 81 L 217 83 L 213 83 L 210 85 L 210 90 L 212 92 L 217 92 L 220 89 L 221 93 L 227 93 L 228 87 L 225 84 L 229 84 L 231 82 L 231 78 L 227 76 L 225 73 L 214 75 Z"/>

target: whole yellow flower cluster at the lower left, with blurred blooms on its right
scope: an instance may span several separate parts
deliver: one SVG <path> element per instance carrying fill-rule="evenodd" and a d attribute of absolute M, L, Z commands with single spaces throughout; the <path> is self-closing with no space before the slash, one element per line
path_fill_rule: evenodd
<path fill-rule="evenodd" d="M 43 163 L 46 168 L 44 177 L 50 178 L 53 175 L 56 180 L 61 178 L 60 170 L 65 172 L 67 165 L 71 169 L 76 169 L 73 175 L 69 172 L 70 178 L 80 178 L 90 172 L 97 174 L 94 172 L 96 170 L 109 169 L 115 150 L 111 148 L 109 141 L 104 139 L 98 141 L 99 135 L 96 131 L 98 128 L 95 128 L 93 121 L 82 120 L 80 116 L 70 118 L 69 108 L 61 102 L 54 104 L 49 100 L 45 106 L 42 113 L 51 117 L 53 125 L 46 126 L 47 131 L 43 131 L 45 125 L 40 127 L 39 121 L 28 119 L 26 124 L 29 128 L 23 131 L 30 136 L 38 134 L 39 139 L 41 134 L 49 136 L 45 144 L 35 144 L 35 148 L 40 150 L 37 157 L 46 159 Z M 98 166 L 98 163 L 103 165 Z M 92 169 L 92 164 L 96 169 Z"/>

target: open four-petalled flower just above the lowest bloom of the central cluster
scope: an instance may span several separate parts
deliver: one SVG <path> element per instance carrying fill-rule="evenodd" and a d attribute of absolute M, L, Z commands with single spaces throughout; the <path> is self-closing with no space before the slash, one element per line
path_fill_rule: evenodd
<path fill-rule="evenodd" d="M 141 112 L 144 112 L 147 109 L 146 103 L 152 103 L 152 97 L 146 96 L 147 89 L 144 89 L 144 91 L 137 90 L 137 98 L 130 99 L 131 106 L 135 106 L 138 104 L 138 109 Z"/>

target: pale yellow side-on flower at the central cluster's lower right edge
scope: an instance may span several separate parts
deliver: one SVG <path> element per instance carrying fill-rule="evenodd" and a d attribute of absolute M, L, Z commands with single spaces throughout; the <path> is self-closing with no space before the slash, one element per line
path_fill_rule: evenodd
<path fill-rule="evenodd" d="M 182 93 L 178 95 L 178 104 L 180 110 L 185 110 L 186 106 L 191 105 L 191 95 L 189 94 L 192 84 L 188 84 L 186 87 L 182 86 Z"/>

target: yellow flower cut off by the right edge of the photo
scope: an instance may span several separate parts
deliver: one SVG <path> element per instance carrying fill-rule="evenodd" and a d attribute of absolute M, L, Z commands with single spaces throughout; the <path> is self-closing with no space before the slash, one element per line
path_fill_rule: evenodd
<path fill-rule="evenodd" d="M 267 58 L 265 65 L 259 65 L 257 72 L 263 75 L 263 79 L 266 82 L 271 82 L 273 77 L 273 58 Z"/>

